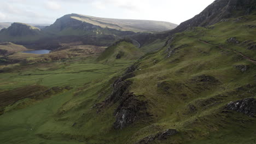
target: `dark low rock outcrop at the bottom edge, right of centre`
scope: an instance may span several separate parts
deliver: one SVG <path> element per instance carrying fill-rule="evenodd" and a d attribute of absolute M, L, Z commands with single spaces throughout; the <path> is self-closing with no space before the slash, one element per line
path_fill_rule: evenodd
<path fill-rule="evenodd" d="M 165 131 L 160 131 L 156 135 L 144 137 L 142 140 L 136 142 L 136 144 L 147 144 L 154 140 L 166 140 L 168 136 L 176 135 L 179 132 L 176 129 L 167 129 Z"/>

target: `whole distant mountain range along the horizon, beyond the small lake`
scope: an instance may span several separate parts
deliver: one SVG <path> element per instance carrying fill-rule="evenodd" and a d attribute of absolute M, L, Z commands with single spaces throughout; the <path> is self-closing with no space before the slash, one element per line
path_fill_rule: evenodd
<path fill-rule="evenodd" d="M 5 27 L 7 24 L 5 23 Z M 62 43 L 76 42 L 109 46 L 114 41 L 138 32 L 160 32 L 176 26 L 162 21 L 106 19 L 68 14 L 57 19 L 53 25 L 37 26 L 42 29 L 25 23 L 13 23 L 0 31 L 0 42 L 10 41 L 20 45 L 33 45 L 33 49 L 47 47 L 50 50 L 56 49 Z"/>

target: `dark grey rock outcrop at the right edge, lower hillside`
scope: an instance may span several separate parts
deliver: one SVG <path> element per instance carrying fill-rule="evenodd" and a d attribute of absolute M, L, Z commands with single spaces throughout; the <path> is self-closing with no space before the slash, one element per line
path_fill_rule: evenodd
<path fill-rule="evenodd" d="M 249 117 L 255 117 L 256 99 L 247 98 L 247 99 L 242 99 L 237 101 L 231 101 L 225 106 L 225 109 L 245 113 Z"/>

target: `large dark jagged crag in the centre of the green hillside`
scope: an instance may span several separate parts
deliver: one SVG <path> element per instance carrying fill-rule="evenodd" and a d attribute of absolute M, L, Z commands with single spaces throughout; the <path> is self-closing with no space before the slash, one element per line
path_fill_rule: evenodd
<path fill-rule="evenodd" d="M 119 103 L 117 109 L 114 112 L 115 122 L 113 127 L 115 129 L 123 129 L 127 125 L 130 125 L 138 119 L 148 116 L 146 101 L 138 100 L 137 96 L 129 92 L 129 88 L 132 84 L 130 79 L 135 76 L 133 72 L 138 68 L 138 65 L 132 65 L 129 67 L 123 76 L 119 77 L 113 83 L 113 91 L 109 97 L 104 101 L 106 104 Z"/>

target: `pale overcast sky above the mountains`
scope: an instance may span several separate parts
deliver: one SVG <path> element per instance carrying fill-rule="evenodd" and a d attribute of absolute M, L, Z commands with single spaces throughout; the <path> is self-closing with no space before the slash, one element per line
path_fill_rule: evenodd
<path fill-rule="evenodd" d="M 214 0 L 0 0 L 0 22 L 53 23 L 66 14 L 181 23 Z"/>

